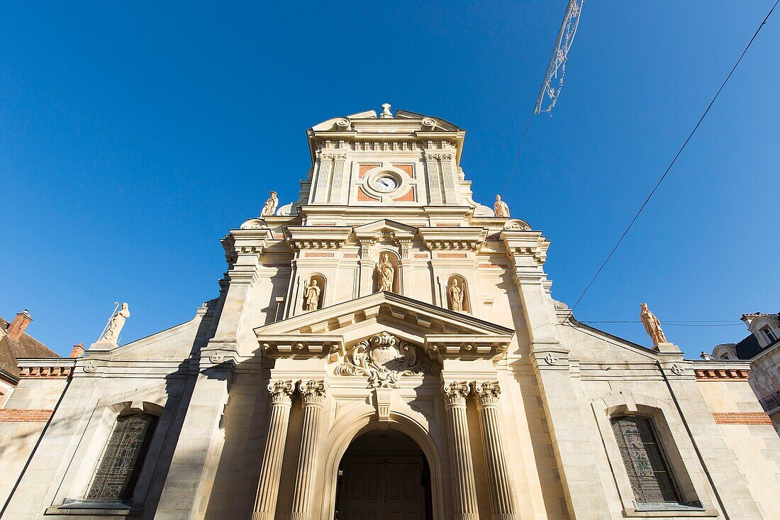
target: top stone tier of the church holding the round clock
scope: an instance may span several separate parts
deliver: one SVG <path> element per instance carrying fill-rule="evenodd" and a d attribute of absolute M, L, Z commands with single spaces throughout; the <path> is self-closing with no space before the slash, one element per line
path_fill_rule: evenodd
<path fill-rule="evenodd" d="M 465 130 L 445 119 L 382 105 L 328 119 L 307 130 L 312 162 L 299 201 L 280 210 L 297 214 L 310 207 L 375 213 L 380 208 L 470 208 L 492 215 L 471 198 L 471 183 L 460 168 Z M 434 209 L 434 212 L 436 210 Z M 401 211 L 403 213 L 403 211 Z"/>

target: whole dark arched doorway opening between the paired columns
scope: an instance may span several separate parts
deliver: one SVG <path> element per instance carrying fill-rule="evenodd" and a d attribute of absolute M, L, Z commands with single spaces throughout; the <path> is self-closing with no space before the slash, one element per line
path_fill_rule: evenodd
<path fill-rule="evenodd" d="M 339 464 L 338 520 L 433 520 L 431 471 L 425 454 L 396 430 L 356 437 Z"/>

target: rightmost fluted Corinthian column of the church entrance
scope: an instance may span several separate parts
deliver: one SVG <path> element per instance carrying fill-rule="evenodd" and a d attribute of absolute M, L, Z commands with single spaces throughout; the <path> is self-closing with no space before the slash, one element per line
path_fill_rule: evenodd
<path fill-rule="evenodd" d="M 509 486 L 509 470 L 506 467 L 504 443 L 498 426 L 498 396 L 501 387 L 498 382 L 471 383 L 477 411 L 480 415 L 482 447 L 485 466 L 488 469 L 490 505 L 493 520 L 514 520 L 515 505 L 512 503 L 512 488 Z"/>

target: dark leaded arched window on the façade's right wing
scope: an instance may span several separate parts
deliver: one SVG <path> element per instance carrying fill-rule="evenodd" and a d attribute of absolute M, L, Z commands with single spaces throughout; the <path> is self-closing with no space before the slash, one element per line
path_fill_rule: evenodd
<path fill-rule="evenodd" d="M 650 419 L 612 418 L 612 430 L 639 504 L 679 504 L 680 498 Z"/>

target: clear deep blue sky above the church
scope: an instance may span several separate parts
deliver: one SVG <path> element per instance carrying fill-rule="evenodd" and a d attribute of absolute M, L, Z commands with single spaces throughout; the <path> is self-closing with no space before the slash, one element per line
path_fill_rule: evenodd
<path fill-rule="evenodd" d="M 225 2 L 219 2 L 225 3 Z M 585 2 L 561 101 L 536 116 L 503 194 L 551 240 L 573 305 L 771 6 Z M 218 239 L 268 191 L 296 198 L 305 129 L 407 109 L 466 128 L 477 200 L 503 190 L 559 2 L 5 2 L 0 6 L 0 315 L 30 308 L 56 351 L 122 342 L 215 297 Z M 576 309 L 636 320 L 647 301 L 690 356 L 778 312 L 780 12 Z M 640 323 L 602 324 L 649 344 Z"/>

